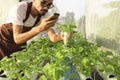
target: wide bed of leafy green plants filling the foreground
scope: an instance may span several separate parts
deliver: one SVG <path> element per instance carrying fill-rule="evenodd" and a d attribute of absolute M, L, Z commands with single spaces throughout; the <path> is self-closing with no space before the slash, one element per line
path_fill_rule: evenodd
<path fill-rule="evenodd" d="M 11 71 L 9 77 L 20 80 L 30 80 L 34 73 L 45 75 L 40 80 L 61 80 L 71 62 L 78 72 L 87 77 L 90 76 L 91 69 L 97 66 L 100 71 L 114 73 L 120 79 L 120 57 L 114 57 L 110 51 L 99 50 L 97 44 L 89 42 L 80 33 L 74 33 L 67 47 L 63 41 L 52 43 L 49 38 L 39 38 L 23 51 L 11 56 L 12 58 L 5 57 L 0 61 L 0 70 Z M 44 65 L 46 61 L 49 63 Z M 20 70 L 22 72 L 18 73 Z M 23 73 L 24 76 L 21 76 Z"/>

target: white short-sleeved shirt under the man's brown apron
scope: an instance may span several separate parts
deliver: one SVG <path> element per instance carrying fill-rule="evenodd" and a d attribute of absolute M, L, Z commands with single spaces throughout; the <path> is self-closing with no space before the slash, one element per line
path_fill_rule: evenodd
<path fill-rule="evenodd" d="M 26 18 L 26 12 L 27 12 L 27 2 L 19 2 L 17 3 L 11 10 L 10 13 L 8 14 L 8 18 L 7 18 L 7 23 L 12 23 L 12 24 L 16 24 L 16 25 L 24 25 L 27 27 L 31 27 L 32 25 L 34 25 L 36 18 L 32 17 L 32 15 L 30 14 L 30 16 L 28 17 L 27 21 L 25 21 L 25 23 L 23 23 L 23 20 Z M 45 18 L 46 16 L 48 16 L 49 13 L 47 13 L 44 17 L 42 17 L 41 19 Z M 41 20 L 40 20 L 41 21 Z M 39 22 L 40 23 L 40 22 Z"/>

